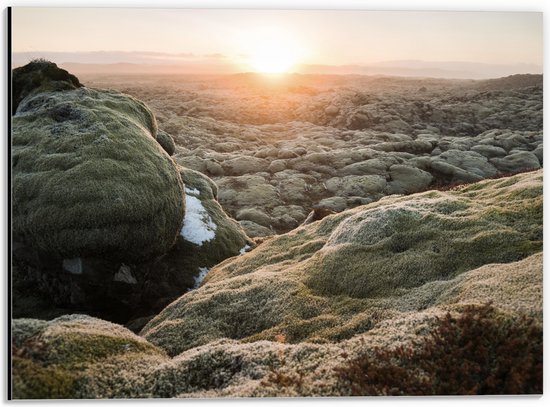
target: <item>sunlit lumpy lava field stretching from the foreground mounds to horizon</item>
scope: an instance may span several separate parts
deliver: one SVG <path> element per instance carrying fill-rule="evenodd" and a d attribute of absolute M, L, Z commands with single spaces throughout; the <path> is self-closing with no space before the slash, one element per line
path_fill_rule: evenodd
<path fill-rule="evenodd" d="M 292 75 L 86 78 L 147 103 L 174 160 L 211 177 L 252 236 L 314 208 L 542 166 L 542 76 L 486 81 Z"/>

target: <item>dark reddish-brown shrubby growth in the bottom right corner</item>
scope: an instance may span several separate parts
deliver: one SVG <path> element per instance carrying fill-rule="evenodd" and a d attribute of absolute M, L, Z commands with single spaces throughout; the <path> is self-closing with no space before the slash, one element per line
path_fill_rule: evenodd
<path fill-rule="evenodd" d="M 542 394 L 542 346 L 534 319 L 467 306 L 415 346 L 375 348 L 338 372 L 354 396 Z"/>

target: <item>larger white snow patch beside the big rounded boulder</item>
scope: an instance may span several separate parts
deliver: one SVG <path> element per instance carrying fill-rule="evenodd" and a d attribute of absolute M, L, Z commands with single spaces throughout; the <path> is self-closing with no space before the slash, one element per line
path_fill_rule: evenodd
<path fill-rule="evenodd" d="M 185 218 L 180 235 L 188 242 L 202 246 L 204 242 L 216 237 L 218 226 L 212 221 L 200 199 L 189 194 L 185 194 L 185 197 Z"/>

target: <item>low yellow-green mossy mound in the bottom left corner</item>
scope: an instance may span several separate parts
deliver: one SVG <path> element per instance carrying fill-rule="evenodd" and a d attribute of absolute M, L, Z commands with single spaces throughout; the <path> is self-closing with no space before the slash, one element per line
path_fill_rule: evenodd
<path fill-rule="evenodd" d="M 17 319 L 12 332 L 16 399 L 135 397 L 142 389 L 132 372 L 166 360 L 127 329 L 85 315 Z"/>

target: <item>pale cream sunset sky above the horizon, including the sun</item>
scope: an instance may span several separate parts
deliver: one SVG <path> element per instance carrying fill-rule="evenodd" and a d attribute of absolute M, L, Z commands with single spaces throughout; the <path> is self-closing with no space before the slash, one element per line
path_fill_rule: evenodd
<path fill-rule="evenodd" d="M 542 13 L 14 8 L 12 49 L 55 62 L 244 68 L 468 61 L 542 66 Z M 72 59 L 72 60 L 71 60 Z"/>

